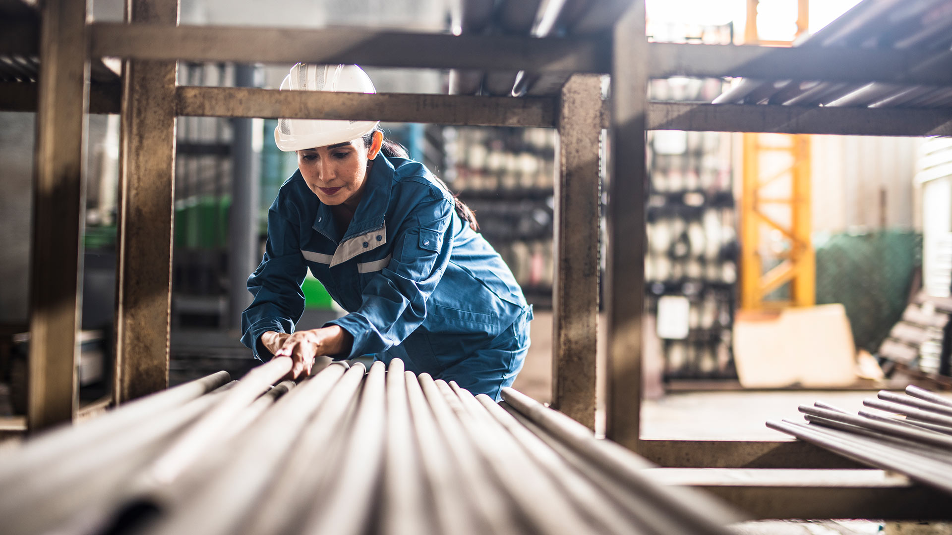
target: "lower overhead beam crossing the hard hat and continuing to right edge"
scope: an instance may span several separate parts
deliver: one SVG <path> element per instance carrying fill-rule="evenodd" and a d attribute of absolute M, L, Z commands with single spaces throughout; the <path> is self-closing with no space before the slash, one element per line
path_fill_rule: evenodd
<path fill-rule="evenodd" d="M 553 127 L 549 97 L 477 97 L 419 93 L 338 93 L 251 88 L 177 89 L 181 116 L 325 118 L 396 123 Z M 602 126 L 609 128 L 610 103 Z M 816 133 L 843 135 L 952 135 L 952 112 L 939 109 L 817 108 L 653 102 L 648 129 Z"/>

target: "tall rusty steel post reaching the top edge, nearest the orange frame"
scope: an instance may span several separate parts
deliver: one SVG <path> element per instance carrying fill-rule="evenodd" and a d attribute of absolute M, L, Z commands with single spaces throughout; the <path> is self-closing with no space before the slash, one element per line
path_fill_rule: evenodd
<path fill-rule="evenodd" d="M 635 450 L 641 423 L 645 307 L 647 58 L 645 0 L 635 0 L 612 33 L 611 174 L 605 277 L 605 434 Z"/>

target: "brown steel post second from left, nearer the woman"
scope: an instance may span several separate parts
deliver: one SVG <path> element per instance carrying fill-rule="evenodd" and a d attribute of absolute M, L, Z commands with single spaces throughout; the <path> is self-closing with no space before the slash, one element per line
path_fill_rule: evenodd
<path fill-rule="evenodd" d="M 178 0 L 128 0 L 126 20 L 175 25 L 178 11 Z M 117 403 L 169 385 L 175 114 L 175 62 L 126 61 L 116 268 Z"/>

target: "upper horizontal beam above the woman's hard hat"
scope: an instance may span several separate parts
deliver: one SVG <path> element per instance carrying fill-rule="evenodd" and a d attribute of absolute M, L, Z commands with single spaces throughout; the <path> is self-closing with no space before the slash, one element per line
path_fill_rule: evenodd
<path fill-rule="evenodd" d="M 607 72 L 609 58 L 597 39 L 123 23 L 90 30 L 91 57 L 536 72 Z"/>

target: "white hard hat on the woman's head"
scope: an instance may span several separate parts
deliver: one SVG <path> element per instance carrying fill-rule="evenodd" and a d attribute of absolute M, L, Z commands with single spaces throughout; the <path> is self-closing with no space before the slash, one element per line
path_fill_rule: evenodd
<path fill-rule="evenodd" d="M 281 89 L 375 93 L 373 82 L 356 65 L 307 65 L 291 68 Z M 274 143 L 285 151 L 314 149 L 357 139 L 377 128 L 379 121 L 330 121 L 325 119 L 278 119 Z"/>

